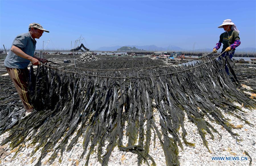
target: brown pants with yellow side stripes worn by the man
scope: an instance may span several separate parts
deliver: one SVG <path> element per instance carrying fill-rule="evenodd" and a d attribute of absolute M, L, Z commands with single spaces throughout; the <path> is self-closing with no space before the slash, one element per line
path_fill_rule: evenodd
<path fill-rule="evenodd" d="M 23 106 L 26 110 L 33 108 L 30 105 L 30 98 L 28 94 L 28 79 L 29 79 L 29 71 L 28 68 L 25 69 L 15 69 L 5 67 L 13 84 L 21 98 Z"/>

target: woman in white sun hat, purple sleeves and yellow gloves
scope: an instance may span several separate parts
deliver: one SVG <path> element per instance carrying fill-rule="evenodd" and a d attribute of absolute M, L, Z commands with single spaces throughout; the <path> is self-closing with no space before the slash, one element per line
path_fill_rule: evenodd
<path fill-rule="evenodd" d="M 229 56 L 230 59 L 232 59 L 235 53 L 235 48 L 238 47 L 241 43 L 239 31 L 235 24 L 230 19 L 224 20 L 223 23 L 220 26 L 218 26 L 218 28 L 223 28 L 225 32 L 220 34 L 220 40 L 213 48 L 213 52 L 217 52 L 217 50 L 221 46 L 221 43 L 223 43 L 222 52 L 225 51 L 226 53 L 224 53 L 222 57 Z M 229 75 L 227 65 L 225 65 L 225 70 Z"/>

